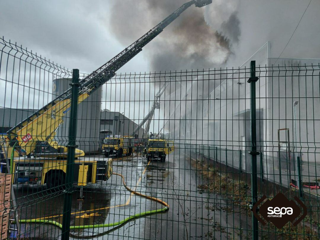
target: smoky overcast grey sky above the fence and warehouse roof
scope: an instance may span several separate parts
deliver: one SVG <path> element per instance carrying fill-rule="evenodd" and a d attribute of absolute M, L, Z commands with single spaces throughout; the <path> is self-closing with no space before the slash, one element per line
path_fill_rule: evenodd
<path fill-rule="evenodd" d="M 0 33 L 62 66 L 91 72 L 184 2 L 1 0 Z M 308 3 L 216 0 L 192 6 L 120 71 L 236 67 L 266 41 L 278 57 Z M 313 0 L 281 57 L 320 58 L 319 10 L 320 1 Z"/>

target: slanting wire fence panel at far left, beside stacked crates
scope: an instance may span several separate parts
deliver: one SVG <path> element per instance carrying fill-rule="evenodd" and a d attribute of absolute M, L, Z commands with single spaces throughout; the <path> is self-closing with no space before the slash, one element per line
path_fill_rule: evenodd
<path fill-rule="evenodd" d="M 68 69 L 5 39 L 0 39 L 0 49 L 1 172 L 11 177 L 11 181 L 8 182 L 10 186 L 6 190 L 1 190 L 1 200 L 11 202 L 11 204 L 1 205 L 2 220 L 5 215 L 8 217 L 7 220 L 11 219 L 5 223 L 7 225 L 2 225 L 1 239 L 5 239 L 6 235 L 9 239 L 45 239 L 52 236 L 57 238 L 60 233 L 53 226 L 41 222 L 37 224 L 19 222 L 60 214 L 63 202 L 59 200 L 63 198 L 63 193 L 49 187 L 42 188 L 48 182 L 48 175 L 45 173 L 50 172 L 50 168 L 44 160 L 33 157 L 36 156 L 33 155 L 34 151 L 30 158 L 31 155 L 22 155 L 12 150 L 14 145 L 17 146 L 16 137 L 20 138 L 19 144 L 32 142 L 33 150 L 47 148 L 45 144 L 36 145 L 34 135 L 48 140 L 46 138 L 49 136 L 36 134 L 36 132 L 44 127 L 45 124 L 42 125 L 42 123 L 46 122 L 53 126 L 54 123 L 49 118 L 44 118 L 47 120 L 38 121 L 36 128 L 30 124 L 30 120 L 29 123 L 25 122 L 13 131 L 16 133 L 15 136 L 9 136 L 7 132 L 51 102 L 52 81 L 57 78 L 68 78 L 71 73 Z M 31 134 L 17 132 L 23 127 L 31 128 L 28 130 Z M 9 139 L 13 141 L 10 142 Z M 59 172 L 54 175 L 60 177 Z M 60 182 L 60 187 L 62 184 Z M 14 187 L 11 188 L 11 185 Z"/>

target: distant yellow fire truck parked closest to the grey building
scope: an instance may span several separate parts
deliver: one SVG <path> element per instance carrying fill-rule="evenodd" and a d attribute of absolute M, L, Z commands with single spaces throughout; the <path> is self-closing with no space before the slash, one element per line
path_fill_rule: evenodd
<path fill-rule="evenodd" d="M 130 156 L 133 152 L 133 138 L 121 135 L 111 135 L 108 138 L 104 138 L 102 152 L 106 157 L 110 155 L 121 157 L 123 154 Z"/>

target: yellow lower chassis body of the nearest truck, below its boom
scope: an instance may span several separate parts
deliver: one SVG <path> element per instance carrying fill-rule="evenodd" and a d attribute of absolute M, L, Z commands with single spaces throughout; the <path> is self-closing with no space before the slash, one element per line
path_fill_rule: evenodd
<path fill-rule="evenodd" d="M 54 158 L 13 159 L 13 184 L 43 185 L 47 188 L 62 187 L 66 178 L 67 160 Z M 74 184 L 86 186 L 87 183 L 106 181 L 112 174 L 111 158 L 78 158 L 74 164 Z"/>

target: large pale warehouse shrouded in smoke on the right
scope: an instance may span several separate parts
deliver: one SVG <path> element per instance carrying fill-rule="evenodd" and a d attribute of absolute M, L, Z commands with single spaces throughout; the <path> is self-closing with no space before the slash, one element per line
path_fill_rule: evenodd
<path fill-rule="evenodd" d="M 320 162 L 320 60 L 273 58 L 270 48 L 270 42 L 264 44 L 240 67 L 240 72 L 222 72 L 221 81 L 218 77 L 219 84 L 210 91 L 205 90 L 207 96 L 195 96 L 191 106 L 187 104 L 186 108 L 191 110 L 181 112 L 180 124 L 175 124 L 180 129 L 175 128 L 171 134 L 185 143 L 217 147 L 230 152 L 242 150 L 245 157 L 245 153 L 251 149 L 250 86 L 247 80 L 250 77 L 250 61 L 255 60 L 256 67 L 260 66 L 257 68 L 259 80 L 256 83 L 258 151 L 274 159 L 282 155 L 281 161 L 289 151 L 294 151 L 299 153 L 304 162 Z M 217 78 L 213 75 L 210 78 L 214 77 Z M 196 88 L 198 82 L 193 82 L 186 92 Z M 188 101 L 186 96 L 181 99 Z M 294 101 L 299 101 L 296 117 L 293 115 Z M 180 106 L 176 111 L 178 108 Z M 174 119 L 173 116 L 170 118 Z M 297 123 L 297 140 L 294 140 L 294 119 Z M 233 164 L 239 167 L 235 159 L 238 156 L 231 158 L 231 161 L 235 161 Z M 241 167 L 248 168 L 244 163 Z M 263 168 L 265 172 L 268 171 L 267 166 Z"/>

